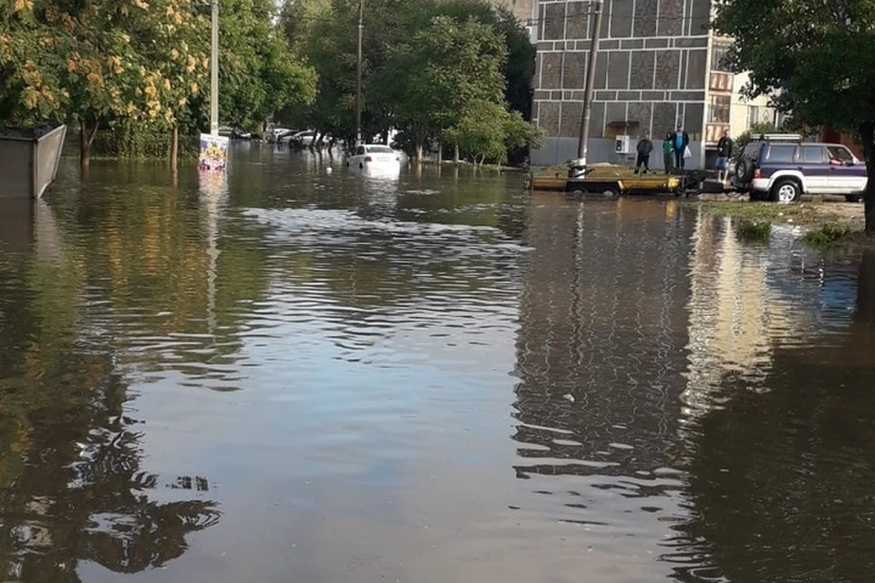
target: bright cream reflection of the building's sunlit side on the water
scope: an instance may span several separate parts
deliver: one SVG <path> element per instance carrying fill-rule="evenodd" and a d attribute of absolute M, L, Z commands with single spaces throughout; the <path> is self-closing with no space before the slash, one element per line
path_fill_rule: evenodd
<path fill-rule="evenodd" d="M 809 257 L 786 229 L 751 245 L 737 240 L 731 220 L 700 215 L 690 254 L 685 413 L 719 405 L 728 388 L 761 390 L 775 352 L 818 332 L 824 309 L 833 323 L 834 312 L 847 318 L 853 286 L 833 277 L 836 267 Z"/>

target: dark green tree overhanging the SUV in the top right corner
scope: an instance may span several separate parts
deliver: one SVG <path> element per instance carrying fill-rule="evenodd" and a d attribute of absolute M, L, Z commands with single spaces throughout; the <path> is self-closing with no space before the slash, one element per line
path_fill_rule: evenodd
<path fill-rule="evenodd" d="M 727 58 L 750 72 L 748 95 L 772 96 L 808 126 L 855 132 L 875 176 L 875 3 L 725 0 L 715 27 L 736 40 Z M 875 180 L 864 199 L 875 235 Z"/>

